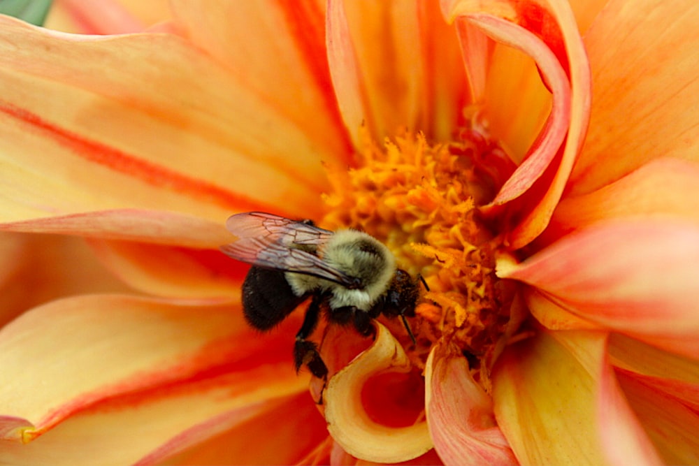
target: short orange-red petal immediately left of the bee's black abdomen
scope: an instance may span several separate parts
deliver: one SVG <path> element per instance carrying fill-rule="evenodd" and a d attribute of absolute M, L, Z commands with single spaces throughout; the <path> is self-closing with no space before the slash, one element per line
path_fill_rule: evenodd
<path fill-rule="evenodd" d="M 248 266 L 218 249 L 190 249 L 129 241 L 90 242 L 124 283 L 154 296 L 239 300 Z"/>

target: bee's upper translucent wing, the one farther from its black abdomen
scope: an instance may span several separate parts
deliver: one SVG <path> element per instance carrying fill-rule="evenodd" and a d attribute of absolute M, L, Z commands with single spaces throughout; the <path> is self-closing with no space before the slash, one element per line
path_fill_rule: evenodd
<path fill-rule="evenodd" d="M 318 228 L 308 222 L 291 220 L 265 212 L 245 212 L 231 215 L 226 221 L 228 231 L 240 240 L 266 238 L 287 247 L 293 245 L 322 245 L 333 235 L 332 231 Z"/>

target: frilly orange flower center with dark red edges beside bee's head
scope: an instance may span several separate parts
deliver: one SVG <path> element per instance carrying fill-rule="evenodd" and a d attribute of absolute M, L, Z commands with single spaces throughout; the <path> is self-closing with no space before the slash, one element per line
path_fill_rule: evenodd
<path fill-rule="evenodd" d="M 380 318 L 424 369 L 433 344 L 456 344 L 474 377 L 486 370 L 510 319 L 512 293 L 495 275 L 495 232 L 480 218 L 514 168 L 476 124 L 452 143 L 429 145 L 421 134 L 401 133 L 377 145 L 361 129 L 359 168 L 333 171 L 334 192 L 324 197 L 325 228 L 357 228 L 382 241 L 399 268 L 420 275 L 412 344 L 400 319 Z"/>

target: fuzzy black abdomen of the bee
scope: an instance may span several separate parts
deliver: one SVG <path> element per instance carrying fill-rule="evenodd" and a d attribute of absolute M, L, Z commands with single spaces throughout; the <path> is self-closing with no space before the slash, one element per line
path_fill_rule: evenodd
<path fill-rule="evenodd" d="M 243 282 L 245 320 L 259 330 L 269 330 L 280 323 L 307 296 L 296 296 L 284 272 L 252 267 Z"/>

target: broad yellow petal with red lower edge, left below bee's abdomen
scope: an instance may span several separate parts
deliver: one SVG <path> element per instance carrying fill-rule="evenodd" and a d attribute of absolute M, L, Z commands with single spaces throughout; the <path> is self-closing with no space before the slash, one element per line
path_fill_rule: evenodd
<path fill-rule="evenodd" d="M 291 348 L 289 335 L 257 337 L 230 305 L 101 295 L 54 301 L 0 330 L 0 368 L 11 381 L 0 388 L 0 431 L 28 442 L 100 400 L 182 384 L 204 370 L 240 372 L 280 361 L 293 372 L 283 351 Z"/>

